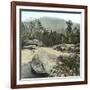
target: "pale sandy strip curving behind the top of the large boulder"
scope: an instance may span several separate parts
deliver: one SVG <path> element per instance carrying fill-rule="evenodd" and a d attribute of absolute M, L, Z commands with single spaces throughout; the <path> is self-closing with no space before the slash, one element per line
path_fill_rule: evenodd
<path fill-rule="evenodd" d="M 63 55 L 63 56 L 70 55 L 70 53 L 63 53 L 61 51 L 56 51 L 52 48 L 46 48 L 46 47 L 39 47 L 35 50 L 23 49 L 21 51 L 21 62 L 22 62 L 22 64 L 30 62 L 32 60 L 33 56 L 39 52 L 47 53 L 47 54 L 51 55 L 51 57 L 52 56 L 58 57 L 59 55 Z"/>

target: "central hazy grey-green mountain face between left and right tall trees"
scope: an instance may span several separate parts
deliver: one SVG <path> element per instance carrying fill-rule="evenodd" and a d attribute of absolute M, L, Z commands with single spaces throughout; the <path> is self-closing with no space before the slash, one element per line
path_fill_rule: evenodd
<path fill-rule="evenodd" d="M 39 20 L 41 21 L 43 27 L 45 27 L 48 30 L 62 33 L 66 28 L 66 21 L 64 19 L 42 17 Z"/>

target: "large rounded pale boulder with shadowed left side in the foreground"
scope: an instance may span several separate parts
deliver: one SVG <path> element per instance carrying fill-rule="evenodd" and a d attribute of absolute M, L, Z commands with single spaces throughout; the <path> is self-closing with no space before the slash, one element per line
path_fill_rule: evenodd
<path fill-rule="evenodd" d="M 50 75 L 56 65 L 57 56 L 47 53 L 46 49 L 40 49 L 32 58 L 31 67 L 37 74 Z"/>

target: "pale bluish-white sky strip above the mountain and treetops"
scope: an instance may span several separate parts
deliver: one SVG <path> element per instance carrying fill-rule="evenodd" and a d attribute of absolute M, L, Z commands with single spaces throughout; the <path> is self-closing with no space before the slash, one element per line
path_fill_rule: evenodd
<path fill-rule="evenodd" d="M 72 20 L 72 22 L 80 23 L 81 14 L 72 13 L 55 13 L 55 12 L 36 12 L 36 11 L 21 11 L 22 21 L 30 21 L 40 17 L 61 18 L 65 20 Z"/>

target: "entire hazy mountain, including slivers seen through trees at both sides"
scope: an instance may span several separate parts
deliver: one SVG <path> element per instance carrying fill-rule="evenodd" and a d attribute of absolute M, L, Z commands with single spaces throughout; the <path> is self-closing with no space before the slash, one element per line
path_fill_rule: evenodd
<path fill-rule="evenodd" d="M 36 20 L 39 20 L 41 22 L 41 25 L 48 31 L 52 30 L 52 31 L 56 31 L 57 33 L 64 33 L 67 27 L 66 20 L 64 19 L 41 17 Z M 24 22 L 24 24 L 29 28 L 30 22 L 34 22 L 36 24 L 36 20 L 35 19 L 32 21 L 28 20 L 28 22 Z M 73 22 L 72 28 L 74 28 L 75 26 L 77 28 L 80 28 L 80 24 Z"/>

